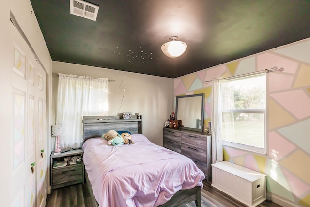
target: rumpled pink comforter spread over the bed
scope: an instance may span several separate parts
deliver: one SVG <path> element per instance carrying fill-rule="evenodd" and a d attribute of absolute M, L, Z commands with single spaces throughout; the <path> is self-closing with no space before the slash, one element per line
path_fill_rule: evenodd
<path fill-rule="evenodd" d="M 131 145 L 108 146 L 101 138 L 83 144 L 83 161 L 99 207 L 155 207 L 179 190 L 203 187 L 203 172 L 176 152 L 133 134 Z"/>

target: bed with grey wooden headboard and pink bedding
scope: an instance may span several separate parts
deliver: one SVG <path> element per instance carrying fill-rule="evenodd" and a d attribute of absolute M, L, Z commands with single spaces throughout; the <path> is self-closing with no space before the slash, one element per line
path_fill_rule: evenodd
<path fill-rule="evenodd" d="M 128 131 L 131 145 L 108 146 L 101 135 Z M 195 201 L 200 207 L 204 173 L 176 152 L 151 143 L 142 120 L 119 116 L 83 117 L 83 162 L 93 206 L 172 207 Z"/>

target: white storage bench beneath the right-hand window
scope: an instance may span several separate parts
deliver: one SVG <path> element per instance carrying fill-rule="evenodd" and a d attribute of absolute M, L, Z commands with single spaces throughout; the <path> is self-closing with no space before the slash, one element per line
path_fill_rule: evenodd
<path fill-rule="evenodd" d="M 212 186 L 249 207 L 266 200 L 266 175 L 228 161 L 212 164 Z"/>

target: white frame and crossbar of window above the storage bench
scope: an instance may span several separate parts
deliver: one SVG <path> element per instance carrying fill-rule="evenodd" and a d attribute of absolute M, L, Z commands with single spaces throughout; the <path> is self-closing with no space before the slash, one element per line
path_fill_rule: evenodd
<path fill-rule="evenodd" d="M 259 154 L 267 154 L 267 75 L 264 74 L 259 74 L 259 75 L 264 75 L 265 76 L 265 80 L 266 80 L 266 84 L 265 84 L 265 109 L 228 109 L 228 110 L 223 110 L 221 108 L 221 116 L 222 113 L 259 113 L 259 114 L 263 114 L 264 115 L 264 148 L 260 148 L 260 147 L 256 147 L 256 146 L 250 146 L 247 144 L 242 144 L 242 143 L 235 143 L 232 141 L 227 141 L 227 140 L 222 140 L 222 144 L 225 146 L 230 146 L 230 147 L 234 147 L 234 148 L 238 148 L 238 149 L 242 149 L 242 150 L 247 150 L 247 151 L 251 151 L 251 152 L 255 152 L 255 153 L 259 153 Z M 251 78 L 254 76 L 259 76 L 259 75 L 249 75 L 249 76 L 245 76 L 242 77 L 242 79 L 247 79 L 247 78 Z M 229 80 L 222 80 L 222 83 L 228 82 L 228 81 L 233 81 L 233 80 L 237 80 L 237 79 L 241 79 L 241 78 L 230 78 Z M 223 99 L 223 88 L 221 87 L 221 98 Z"/>

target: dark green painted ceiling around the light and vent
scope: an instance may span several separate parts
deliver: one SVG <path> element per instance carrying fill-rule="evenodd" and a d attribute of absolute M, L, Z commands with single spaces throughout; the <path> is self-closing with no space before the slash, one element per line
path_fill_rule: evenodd
<path fill-rule="evenodd" d="M 310 37 L 309 0 L 31 0 L 53 61 L 175 78 Z M 177 58 L 160 47 L 176 35 Z"/>

